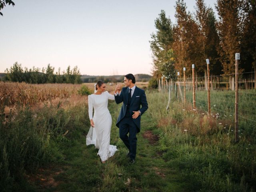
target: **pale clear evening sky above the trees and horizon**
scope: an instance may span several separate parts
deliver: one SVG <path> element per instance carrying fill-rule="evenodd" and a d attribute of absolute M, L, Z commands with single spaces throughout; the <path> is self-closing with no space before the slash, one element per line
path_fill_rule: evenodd
<path fill-rule="evenodd" d="M 81 74 L 151 74 L 150 34 L 161 10 L 175 23 L 175 0 L 13 0 L 0 16 L 0 73 L 28 69 Z M 195 0 L 184 0 L 194 12 Z M 216 0 L 205 0 L 214 9 Z M 214 9 L 215 11 L 215 9 Z"/>

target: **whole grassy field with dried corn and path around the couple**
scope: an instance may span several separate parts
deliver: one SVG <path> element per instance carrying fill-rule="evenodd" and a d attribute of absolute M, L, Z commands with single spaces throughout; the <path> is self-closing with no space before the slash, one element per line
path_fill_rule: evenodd
<path fill-rule="evenodd" d="M 166 110 L 168 92 L 146 88 L 149 108 L 142 116 L 136 163 L 129 166 L 115 126 L 120 104 L 109 102 L 115 156 L 103 165 L 97 150 L 85 145 L 89 119 L 81 86 L 0 83 L 1 191 L 256 190 L 255 90 L 240 92 L 235 143 L 234 92 L 212 91 L 209 117 L 205 91 L 196 92 L 197 110 L 190 91 L 185 106 L 172 91 Z M 86 86 L 93 90 L 92 83 Z M 113 93 L 114 86 L 107 90 Z"/>

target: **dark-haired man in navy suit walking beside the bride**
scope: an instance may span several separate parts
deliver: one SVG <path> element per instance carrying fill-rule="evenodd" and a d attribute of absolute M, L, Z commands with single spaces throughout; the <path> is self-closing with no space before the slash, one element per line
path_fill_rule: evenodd
<path fill-rule="evenodd" d="M 115 92 L 116 103 L 123 102 L 116 126 L 119 128 L 120 138 L 129 150 L 127 155 L 130 156 L 131 164 L 135 162 L 136 134 L 140 132 L 140 116 L 148 109 L 145 91 L 135 86 L 135 82 L 134 75 L 127 74 L 124 76 L 125 87 L 122 88 L 122 92 Z M 117 85 L 115 90 L 120 90 L 120 85 Z"/>

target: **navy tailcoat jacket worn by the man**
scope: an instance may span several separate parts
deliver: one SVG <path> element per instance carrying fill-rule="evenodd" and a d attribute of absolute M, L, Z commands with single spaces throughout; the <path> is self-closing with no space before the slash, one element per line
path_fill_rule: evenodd
<path fill-rule="evenodd" d="M 122 88 L 122 92 L 120 93 L 120 95 L 115 96 L 115 100 L 117 104 L 123 102 L 120 114 L 116 122 L 116 126 L 118 128 L 119 128 L 120 121 L 124 118 L 126 114 L 128 95 L 129 95 L 129 87 L 124 87 Z M 140 106 L 142 107 L 140 108 Z M 147 109 L 148 109 L 148 102 L 147 102 L 145 91 L 136 86 L 134 93 L 132 94 L 132 99 L 130 103 L 130 114 L 134 114 L 133 111 L 138 111 L 138 110 L 140 110 L 141 112 L 141 114 L 136 119 L 132 118 L 132 120 L 134 121 L 134 123 L 138 128 L 138 132 L 140 132 L 140 117 Z"/>

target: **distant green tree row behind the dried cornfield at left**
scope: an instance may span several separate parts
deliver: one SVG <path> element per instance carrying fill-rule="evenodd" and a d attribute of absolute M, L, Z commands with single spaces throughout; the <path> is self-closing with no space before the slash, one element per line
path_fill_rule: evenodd
<path fill-rule="evenodd" d="M 71 83 L 79 84 L 81 81 L 81 74 L 78 70 L 78 67 L 75 66 L 73 69 L 70 69 L 70 66 L 65 71 L 54 73 L 54 67 L 48 66 L 46 68 L 22 68 L 21 64 L 15 62 L 10 69 L 5 70 L 5 76 L 2 78 L 3 81 L 9 82 L 26 82 L 31 84 L 43 84 L 43 83 Z"/>

